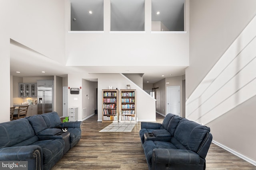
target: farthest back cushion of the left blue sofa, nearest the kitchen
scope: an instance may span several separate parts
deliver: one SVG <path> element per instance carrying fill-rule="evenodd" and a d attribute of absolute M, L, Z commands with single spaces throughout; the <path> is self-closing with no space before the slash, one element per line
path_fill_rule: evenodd
<path fill-rule="evenodd" d="M 42 114 L 42 117 L 48 128 L 54 128 L 61 124 L 60 116 L 55 111 Z"/>

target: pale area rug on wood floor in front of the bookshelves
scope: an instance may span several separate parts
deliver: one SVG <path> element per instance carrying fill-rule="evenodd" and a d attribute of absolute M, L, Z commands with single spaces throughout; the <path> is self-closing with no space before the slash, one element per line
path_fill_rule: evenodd
<path fill-rule="evenodd" d="M 135 125 L 134 122 L 111 123 L 99 132 L 131 132 Z"/>

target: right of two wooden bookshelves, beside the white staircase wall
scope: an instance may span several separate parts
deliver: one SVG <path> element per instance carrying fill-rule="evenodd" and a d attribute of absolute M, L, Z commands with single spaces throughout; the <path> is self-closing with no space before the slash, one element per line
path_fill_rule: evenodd
<path fill-rule="evenodd" d="M 136 90 L 121 90 L 120 121 L 136 122 Z"/>

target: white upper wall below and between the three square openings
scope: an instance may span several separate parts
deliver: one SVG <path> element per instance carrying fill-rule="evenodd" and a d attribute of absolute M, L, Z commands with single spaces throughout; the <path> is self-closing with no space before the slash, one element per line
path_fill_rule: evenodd
<path fill-rule="evenodd" d="M 145 1 L 145 31 L 110 31 L 110 0 L 104 0 L 104 31 L 66 33 L 66 59 L 68 66 L 188 66 L 189 33 L 152 33 L 151 0 Z"/>

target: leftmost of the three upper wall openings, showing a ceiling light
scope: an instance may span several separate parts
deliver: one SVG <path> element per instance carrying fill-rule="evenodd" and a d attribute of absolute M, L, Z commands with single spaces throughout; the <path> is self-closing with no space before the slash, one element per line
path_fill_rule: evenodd
<path fill-rule="evenodd" d="M 71 31 L 103 31 L 103 0 L 70 0 Z"/>

